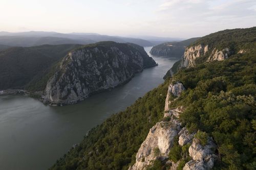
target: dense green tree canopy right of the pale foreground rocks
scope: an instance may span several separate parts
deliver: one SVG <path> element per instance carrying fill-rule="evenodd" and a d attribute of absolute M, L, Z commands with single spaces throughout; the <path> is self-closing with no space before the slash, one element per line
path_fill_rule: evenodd
<path fill-rule="evenodd" d="M 256 45 L 256 43 L 254 42 Z M 171 107 L 185 106 L 180 118 L 205 144 L 217 143 L 218 168 L 246 169 L 255 161 L 256 49 L 224 61 L 182 69 L 173 79 L 185 88 Z"/>

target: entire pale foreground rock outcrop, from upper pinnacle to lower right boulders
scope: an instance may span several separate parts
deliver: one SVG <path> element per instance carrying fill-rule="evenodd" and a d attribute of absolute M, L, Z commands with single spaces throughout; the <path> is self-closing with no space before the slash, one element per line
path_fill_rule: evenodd
<path fill-rule="evenodd" d="M 158 159 L 161 162 L 165 162 L 169 165 L 170 170 L 176 170 L 180 161 L 172 162 L 168 160 L 168 154 L 173 147 L 174 139 L 178 137 L 178 143 L 180 147 L 187 143 L 190 143 L 188 149 L 189 156 L 191 158 L 185 166 L 184 170 L 188 169 L 211 169 L 214 166 L 214 162 L 217 156 L 214 154 L 216 144 L 212 138 L 208 137 L 207 144 L 201 145 L 199 140 L 194 138 L 196 133 L 190 134 L 186 127 L 181 127 L 179 120 L 180 114 L 182 114 L 184 107 L 180 106 L 175 109 L 169 109 L 169 96 L 180 96 L 181 92 L 185 90 L 182 83 L 171 83 L 168 87 L 168 92 L 165 101 L 164 117 L 169 117 L 169 120 L 157 123 L 150 129 L 146 139 L 141 144 L 141 147 L 136 155 L 136 162 L 130 166 L 129 170 L 146 169 L 154 160 Z"/>

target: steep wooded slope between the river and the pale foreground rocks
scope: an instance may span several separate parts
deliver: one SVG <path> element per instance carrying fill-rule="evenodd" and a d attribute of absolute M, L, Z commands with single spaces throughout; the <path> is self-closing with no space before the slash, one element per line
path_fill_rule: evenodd
<path fill-rule="evenodd" d="M 50 169 L 127 169 L 150 128 L 163 117 L 167 87 L 168 81 L 93 128 Z"/>

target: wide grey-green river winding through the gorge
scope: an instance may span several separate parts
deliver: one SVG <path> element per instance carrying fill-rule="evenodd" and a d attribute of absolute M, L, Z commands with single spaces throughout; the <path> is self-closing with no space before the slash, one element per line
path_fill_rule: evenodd
<path fill-rule="evenodd" d="M 148 55 L 151 48 L 145 47 Z M 0 96 L 0 169 L 48 169 L 87 131 L 161 84 L 178 59 L 150 56 L 158 66 L 76 105 L 51 107 L 24 95 Z"/>

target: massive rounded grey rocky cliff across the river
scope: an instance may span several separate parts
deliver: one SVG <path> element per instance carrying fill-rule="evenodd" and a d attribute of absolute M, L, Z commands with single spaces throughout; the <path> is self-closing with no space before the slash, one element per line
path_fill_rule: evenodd
<path fill-rule="evenodd" d="M 100 42 L 70 52 L 45 89 L 45 102 L 74 104 L 129 81 L 156 62 L 135 44 Z"/>

